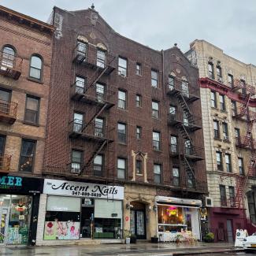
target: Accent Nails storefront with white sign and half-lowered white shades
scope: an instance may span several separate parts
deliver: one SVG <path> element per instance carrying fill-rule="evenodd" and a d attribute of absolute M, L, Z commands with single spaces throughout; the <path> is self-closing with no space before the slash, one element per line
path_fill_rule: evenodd
<path fill-rule="evenodd" d="M 46 179 L 40 199 L 45 208 L 39 210 L 44 223 L 37 244 L 121 239 L 123 199 L 124 187 Z"/>

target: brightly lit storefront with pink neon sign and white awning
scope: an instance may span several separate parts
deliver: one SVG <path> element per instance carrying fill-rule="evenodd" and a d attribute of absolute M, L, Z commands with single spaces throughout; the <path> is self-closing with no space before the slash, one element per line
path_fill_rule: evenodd
<path fill-rule="evenodd" d="M 158 236 L 172 237 L 178 233 L 190 232 L 196 239 L 201 239 L 199 207 L 202 201 L 157 196 Z"/>

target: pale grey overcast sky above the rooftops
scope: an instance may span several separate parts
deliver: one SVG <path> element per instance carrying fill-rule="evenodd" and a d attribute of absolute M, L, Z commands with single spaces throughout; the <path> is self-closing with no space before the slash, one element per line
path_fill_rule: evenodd
<path fill-rule="evenodd" d="M 256 65 L 255 0 L 0 0 L 0 5 L 46 21 L 53 6 L 95 9 L 118 33 L 156 50 L 205 39 Z"/>

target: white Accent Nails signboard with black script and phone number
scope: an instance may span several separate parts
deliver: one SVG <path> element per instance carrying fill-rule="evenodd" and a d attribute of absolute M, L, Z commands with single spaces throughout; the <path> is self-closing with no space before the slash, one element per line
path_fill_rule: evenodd
<path fill-rule="evenodd" d="M 48 195 L 69 195 L 83 198 L 124 199 L 124 187 L 69 180 L 45 179 L 43 193 Z"/>

